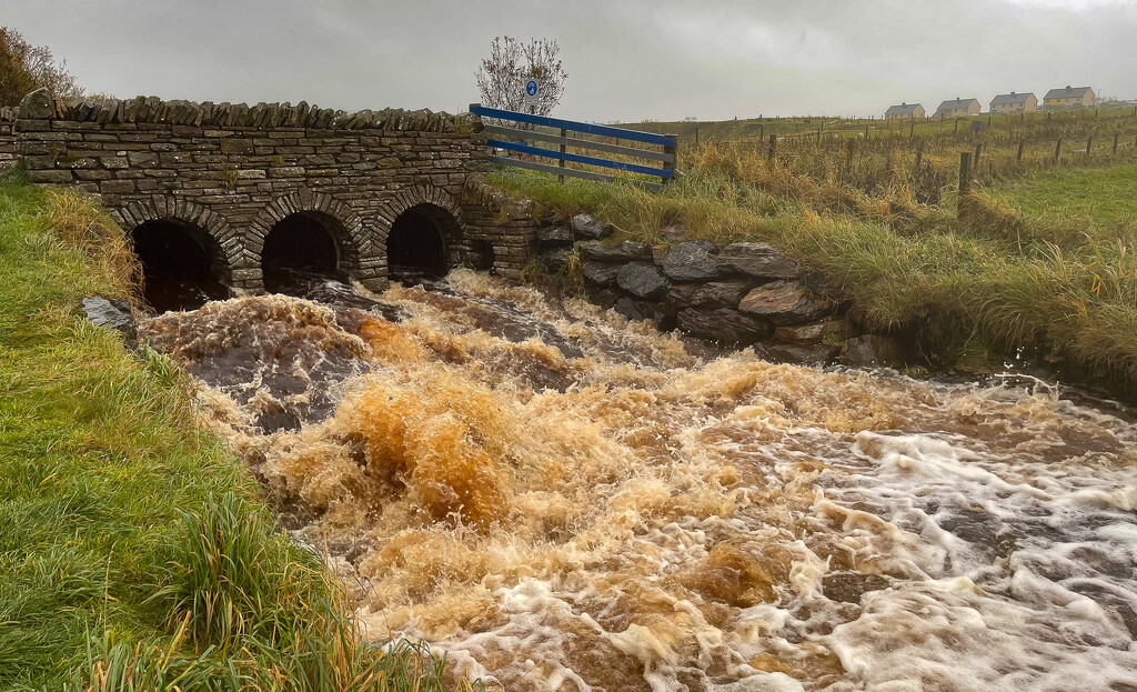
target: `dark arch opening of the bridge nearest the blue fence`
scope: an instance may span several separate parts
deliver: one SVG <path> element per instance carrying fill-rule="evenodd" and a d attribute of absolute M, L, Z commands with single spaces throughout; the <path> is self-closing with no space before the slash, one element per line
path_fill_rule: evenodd
<path fill-rule="evenodd" d="M 447 233 L 458 228 L 458 221 L 442 207 L 408 207 L 395 219 L 387 236 L 390 277 L 408 283 L 446 274 Z"/>

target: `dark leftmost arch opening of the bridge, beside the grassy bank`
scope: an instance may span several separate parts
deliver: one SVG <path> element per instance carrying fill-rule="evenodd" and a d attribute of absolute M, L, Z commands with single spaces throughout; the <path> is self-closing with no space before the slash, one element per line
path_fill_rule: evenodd
<path fill-rule="evenodd" d="M 229 297 L 221 249 L 205 230 L 161 219 L 135 226 L 131 240 L 142 264 L 143 298 L 155 311 L 197 310 Z"/>

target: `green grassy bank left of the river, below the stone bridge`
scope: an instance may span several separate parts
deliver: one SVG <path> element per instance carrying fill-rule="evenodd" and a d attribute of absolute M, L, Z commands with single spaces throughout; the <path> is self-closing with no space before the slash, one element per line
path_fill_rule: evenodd
<path fill-rule="evenodd" d="M 0 178 L 0 687 L 440 690 L 360 644 L 185 376 L 78 316 L 133 272 L 96 205 Z"/>

